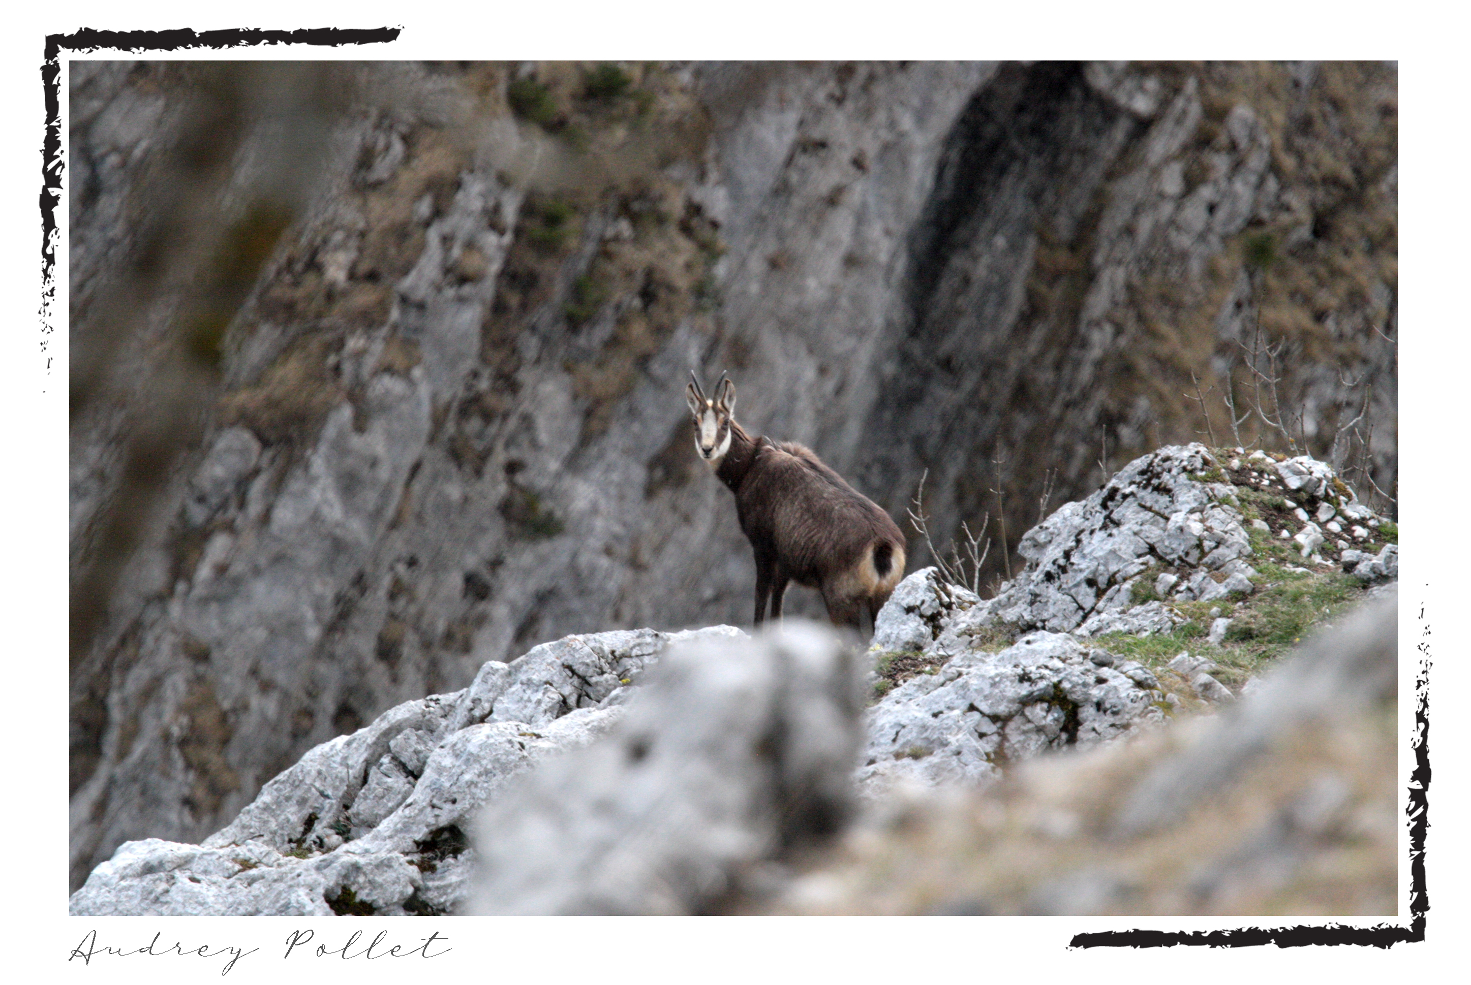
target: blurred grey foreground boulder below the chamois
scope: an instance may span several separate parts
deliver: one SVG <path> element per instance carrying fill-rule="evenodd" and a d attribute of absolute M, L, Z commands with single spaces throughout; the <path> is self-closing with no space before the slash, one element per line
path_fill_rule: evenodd
<path fill-rule="evenodd" d="M 480 823 L 477 913 L 703 913 L 836 835 L 862 741 L 858 651 L 788 622 L 672 651 L 605 741 Z"/>

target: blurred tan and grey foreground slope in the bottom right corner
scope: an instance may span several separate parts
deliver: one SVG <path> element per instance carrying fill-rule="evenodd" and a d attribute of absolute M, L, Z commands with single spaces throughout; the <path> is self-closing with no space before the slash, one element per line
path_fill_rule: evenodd
<path fill-rule="evenodd" d="M 741 911 L 1393 914 L 1389 594 L 1214 714 L 875 809 L 840 851 Z"/>

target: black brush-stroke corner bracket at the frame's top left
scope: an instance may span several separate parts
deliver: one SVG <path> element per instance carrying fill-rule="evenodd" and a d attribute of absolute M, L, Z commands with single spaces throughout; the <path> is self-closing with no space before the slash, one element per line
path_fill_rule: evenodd
<path fill-rule="evenodd" d="M 46 373 L 51 372 L 50 335 L 54 332 L 56 304 L 56 207 L 62 198 L 62 112 L 60 112 L 60 53 L 96 51 L 178 51 L 181 49 L 244 49 L 259 44 L 387 44 L 403 32 L 394 28 L 300 28 L 297 31 L 266 31 L 260 28 L 224 28 L 219 31 L 99 31 L 79 28 L 72 34 L 46 35 L 41 60 L 41 88 L 46 98 L 46 137 L 41 144 L 41 354 Z"/>

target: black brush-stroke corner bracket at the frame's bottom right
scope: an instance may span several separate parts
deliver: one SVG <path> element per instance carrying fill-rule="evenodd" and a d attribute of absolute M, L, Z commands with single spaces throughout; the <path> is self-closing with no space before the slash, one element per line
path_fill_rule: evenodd
<path fill-rule="evenodd" d="M 1415 728 L 1409 747 L 1415 751 L 1415 767 L 1409 773 L 1409 926 L 1377 923 L 1374 926 L 1246 926 L 1233 931 L 1099 931 L 1074 934 L 1068 950 L 1089 947 L 1309 947 L 1356 944 L 1359 947 L 1390 948 L 1395 944 L 1420 944 L 1425 939 L 1425 914 L 1430 897 L 1425 892 L 1425 832 L 1430 829 L 1430 623 L 1425 604 L 1420 604 L 1420 642 L 1415 651 Z"/>

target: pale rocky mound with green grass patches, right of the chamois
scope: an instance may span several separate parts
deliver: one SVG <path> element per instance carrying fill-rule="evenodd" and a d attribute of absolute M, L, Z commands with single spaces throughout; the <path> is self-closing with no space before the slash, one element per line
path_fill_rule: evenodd
<path fill-rule="evenodd" d="M 1028 531 L 1025 567 L 993 598 L 936 569 L 896 588 L 859 781 L 984 784 L 1039 750 L 1231 701 L 1309 626 L 1395 581 L 1396 541 L 1314 459 L 1199 444 L 1136 459 Z"/>

